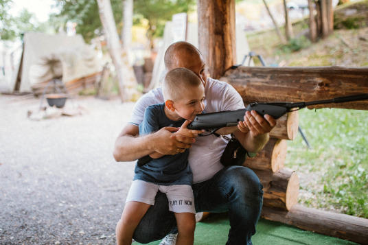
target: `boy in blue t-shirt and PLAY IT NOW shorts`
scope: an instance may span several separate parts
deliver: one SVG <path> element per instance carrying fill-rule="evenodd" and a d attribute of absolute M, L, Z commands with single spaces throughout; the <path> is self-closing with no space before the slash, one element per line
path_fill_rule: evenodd
<path fill-rule="evenodd" d="M 163 97 L 165 103 L 146 109 L 139 135 L 165 126 L 181 127 L 174 133 L 192 138 L 203 133 L 203 130 L 187 129 L 189 122 L 205 108 L 205 89 L 194 72 L 185 68 L 170 71 L 163 82 Z M 196 210 L 192 170 L 187 162 L 189 150 L 178 148 L 176 152 L 180 153 L 163 156 L 154 152 L 143 163 L 139 159 L 122 218 L 117 223 L 117 244 L 131 244 L 135 228 L 150 205 L 154 205 L 158 190 L 168 196 L 169 209 L 175 214 L 179 231 L 176 244 L 194 243 Z"/>

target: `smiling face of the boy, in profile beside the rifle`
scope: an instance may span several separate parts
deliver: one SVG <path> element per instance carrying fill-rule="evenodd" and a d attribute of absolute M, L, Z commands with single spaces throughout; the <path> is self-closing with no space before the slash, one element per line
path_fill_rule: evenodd
<path fill-rule="evenodd" d="M 181 100 L 174 102 L 176 113 L 187 120 L 193 120 L 205 109 L 205 88 L 202 84 L 191 86 L 183 91 Z"/>

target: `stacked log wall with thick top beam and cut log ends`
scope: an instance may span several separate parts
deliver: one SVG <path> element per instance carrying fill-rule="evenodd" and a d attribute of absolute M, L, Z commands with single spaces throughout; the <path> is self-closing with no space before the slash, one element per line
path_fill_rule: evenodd
<path fill-rule="evenodd" d="M 368 93 L 366 67 L 238 67 L 229 69 L 220 80 L 228 82 L 250 102 L 309 102 Z M 368 100 L 323 104 L 308 108 L 349 108 L 368 110 Z M 310 209 L 297 204 L 299 178 L 284 167 L 286 141 L 295 139 L 297 111 L 277 120 L 270 141 L 250 167 L 264 185 L 262 218 L 301 229 L 368 244 L 368 220 L 341 213 Z"/>

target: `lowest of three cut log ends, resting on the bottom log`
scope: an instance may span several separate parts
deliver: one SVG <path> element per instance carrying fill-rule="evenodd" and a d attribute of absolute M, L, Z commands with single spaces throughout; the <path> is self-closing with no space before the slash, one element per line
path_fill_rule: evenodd
<path fill-rule="evenodd" d="M 272 173 L 253 170 L 263 185 L 263 205 L 290 210 L 297 204 L 299 177 L 295 172 L 282 168 Z"/>

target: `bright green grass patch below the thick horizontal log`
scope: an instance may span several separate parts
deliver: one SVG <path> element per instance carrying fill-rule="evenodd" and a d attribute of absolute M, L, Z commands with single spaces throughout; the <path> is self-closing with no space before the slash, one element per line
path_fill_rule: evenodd
<path fill-rule="evenodd" d="M 368 111 L 299 111 L 299 126 L 310 143 L 288 142 L 286 165 L 311 176 L 301 182 L 299 202 L 368 218 Z M 306 193 L 309 194 L 306 194 Z"/>

